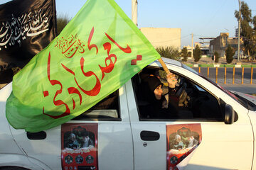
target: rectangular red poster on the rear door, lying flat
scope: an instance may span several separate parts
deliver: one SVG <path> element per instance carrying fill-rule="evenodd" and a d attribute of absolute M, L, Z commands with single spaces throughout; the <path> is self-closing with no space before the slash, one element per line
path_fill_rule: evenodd
<path fill-rule="evenodd" d="M 98 125 L 64 123 L 61 125 L 61 165 L 63 170 L 98 169 Z"/>

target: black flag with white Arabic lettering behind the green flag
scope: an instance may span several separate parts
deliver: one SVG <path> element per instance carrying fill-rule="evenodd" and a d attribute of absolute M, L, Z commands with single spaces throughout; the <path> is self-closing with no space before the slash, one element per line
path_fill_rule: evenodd
<path fill-rule="evenodd" d="M 55 0 L 14 0 L 0 5 L 0 84 L 11 82 L 55 38 L 56 30 Z"/>

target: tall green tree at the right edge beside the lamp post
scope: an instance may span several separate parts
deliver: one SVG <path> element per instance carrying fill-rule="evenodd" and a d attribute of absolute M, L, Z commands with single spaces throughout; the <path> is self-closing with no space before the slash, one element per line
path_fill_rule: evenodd
<path fill-rule="evenodd" d="M 239 11 L 235 10 L 235 18 L 238 18 L 238 21 L 240 20 L 243 50 L 250 58 L 250 56 L 256 55 L 256 16 L 252 18 L 252 10 L 245 1 L 242 1 L 240 11 L 241 16 L 239 16 Z"/>

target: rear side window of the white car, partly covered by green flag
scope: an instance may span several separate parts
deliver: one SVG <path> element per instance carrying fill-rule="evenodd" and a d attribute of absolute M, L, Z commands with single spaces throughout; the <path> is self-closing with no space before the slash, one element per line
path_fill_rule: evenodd
<path fill-rule="evenodd" d="M 73 120 L 120 120 L 118 90 Z"/>

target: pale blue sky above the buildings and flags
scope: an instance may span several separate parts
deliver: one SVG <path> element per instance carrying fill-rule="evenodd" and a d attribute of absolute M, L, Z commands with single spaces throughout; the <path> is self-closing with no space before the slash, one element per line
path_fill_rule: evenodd
<path fill-rule="evenodd" d="M 1 0 L 4 4 L 9 0 Z M 87 0 L 55 0 L 58 16 L 73 18 Z M 132 0 L 115 0 L 129 18 L 132 18 Z M 199 38 L 215 38 L 220 33 L 235 37 L 238 21 L 238 0 L 137 0 L 138 27 L 181 28 L 181 48 Z M 256 1 L 245 0 L 256 16 Z"/>

